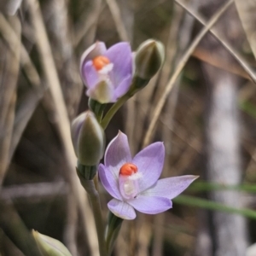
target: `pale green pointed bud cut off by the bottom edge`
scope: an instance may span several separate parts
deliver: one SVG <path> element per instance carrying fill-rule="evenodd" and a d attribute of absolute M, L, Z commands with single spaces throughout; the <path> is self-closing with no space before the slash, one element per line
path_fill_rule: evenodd
<path fill-rule="evenodd" d="M 32 230 L 38 248 L 43 256 L 72 256 L 61 241 L 58 241 L 52 237 L 44 236 L 38 231 Z"/>

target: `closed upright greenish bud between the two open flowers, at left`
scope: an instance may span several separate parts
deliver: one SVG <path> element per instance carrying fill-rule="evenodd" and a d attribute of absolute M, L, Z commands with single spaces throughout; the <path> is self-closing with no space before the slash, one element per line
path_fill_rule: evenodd
<path fill-rule="evenodd" d="M 98 164 L 104 154 L 105 134 L 95 114 L 88 110 L 74 119 L 71 135 L 79 162 L 84 166 Z"/>

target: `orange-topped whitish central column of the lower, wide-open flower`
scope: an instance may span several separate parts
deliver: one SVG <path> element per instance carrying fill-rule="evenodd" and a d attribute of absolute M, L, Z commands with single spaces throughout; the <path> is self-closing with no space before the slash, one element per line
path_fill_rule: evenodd
<path fill-rule="evenodd" d="M 119 190 L 125 200 L 131 200 L 139 193 L 138 179 L 142 174 L 137 172 L 137 166 L 126 163 L 119 170 Z"/>

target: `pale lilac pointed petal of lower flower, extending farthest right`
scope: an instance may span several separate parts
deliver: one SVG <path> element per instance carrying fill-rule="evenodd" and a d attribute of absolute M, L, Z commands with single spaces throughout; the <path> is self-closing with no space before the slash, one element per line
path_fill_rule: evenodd
<path fill-rule="evenodd" d="M 181 194 L 198 176 L 184 175 L 180 177 L 166 177 L 160 179 L 153 187 L 143 191 L 142 195 L 162 196 L 169 200 Z"/>

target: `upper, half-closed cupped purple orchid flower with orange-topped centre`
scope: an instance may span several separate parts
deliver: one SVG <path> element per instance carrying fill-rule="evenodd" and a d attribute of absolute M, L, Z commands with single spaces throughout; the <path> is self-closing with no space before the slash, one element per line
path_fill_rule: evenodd
<path fill-rule="evenodd" d="M 80 61 L 87 96 L 101 103 L 116 102 L 130 88 L 132 63 L 129 43 L 114 44 L 109 49 L 103 42 L 91 45 Z"/>

